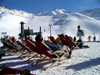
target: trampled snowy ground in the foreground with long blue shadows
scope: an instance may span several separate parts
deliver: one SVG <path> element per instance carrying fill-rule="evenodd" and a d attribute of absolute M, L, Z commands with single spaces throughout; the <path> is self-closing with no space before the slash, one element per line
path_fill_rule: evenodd
<path fill-rule="evenodd" d="M 99 75 L 100 74 L 100 42 L 84 42 L 90 48 L 77 49 L 72 51 L 70 59 L 64 58 L 64 63 L 54 65 L 47 71 L 37 68 L 42 68 L 43 65 L 51 63 L 50 61 L 42 62 L 32 67 L 31 64 L 18 58 L 18 54 L 13 56 L 3 56 L 4 61 L 0 62 L 0 66 L 6 66 L 24 70 L 29 69 L 31 73 L 36 75 Z M 34 60 L 34 58 L 32 59 Z"/>

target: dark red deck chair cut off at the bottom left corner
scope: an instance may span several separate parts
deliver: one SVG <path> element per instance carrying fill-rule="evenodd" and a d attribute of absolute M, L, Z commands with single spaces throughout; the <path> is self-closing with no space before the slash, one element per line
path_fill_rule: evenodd
<path fill-rule="evenodd" d="M 5 64 L 0 67 L 0 75 L 35 75 L 30 74 L 30 70 L 25 69 L 24 71 L 7 67 Z"/>

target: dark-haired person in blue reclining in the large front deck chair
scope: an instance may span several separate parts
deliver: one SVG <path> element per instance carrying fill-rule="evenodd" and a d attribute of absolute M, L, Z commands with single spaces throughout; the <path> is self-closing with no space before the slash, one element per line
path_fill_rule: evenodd
<path fill-rule="evenodd" d="M 43 41 L 43 37 L 42 37 L 42 35 L 41 34 L 38 34 L 36 37 L 35 37 L 35 40 L 36 40 L 36 42 L 44 42 L 46 45 L 48 45 L 54 52 L 55 51 L 60 51 L 60 50 L 66 50 L 66 49 L 64 49 L 64 48 L 59 48 L 58 46 L 56 46 L 54 43 L 50 43 L 50 42 L 48 42 L 48 41 Z M 50 54 L 52 54 L 53 55 L 53 53 L 47 48 L 47 47 L 45 47 L 45 49 L 50 53 Z M 58 54 L 59 56 L 61 55 L 61 54 Z M 70 58 L 70 56 L 71 56 L 71 53 L 69 52 L 67 55 L 66 55 L 66 57 L 67 58 Z"/>

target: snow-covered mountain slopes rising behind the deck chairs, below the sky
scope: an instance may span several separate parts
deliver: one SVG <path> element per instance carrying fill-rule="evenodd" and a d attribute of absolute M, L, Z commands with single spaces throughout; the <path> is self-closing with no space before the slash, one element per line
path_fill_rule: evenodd
<path fill-rule="evenodd" d="M 100 20 L 87 16 L 86 14 L 85 12 L 84 14 L 82 12 L 71 13 L 70 11 L 66 11 L 64 9 L 54 9 L 49 12 L 33 14 L 25 11 L 10 10 L 1 6 L 0 33 L 7 32 L 7 35 L 18 38 L 18 34 L 21 32 L 20 22 L 23 21 L 25 23 L 24 29 L 28 29 L 29 27 L 30 29 L 33 29 L 33 32 L 38 32 L 39 27 L 41 26 L 44 39 L 47 39 L 47 36 L 50 35 L 49 24 L 52 24 L 51 35 L 55 38 L 57 37 L 57 34 L 62 33 L 74 37 L 77 33 L 77 26 L 80 25 L 81 29 L 83 29 L 85 33 L 83 40 L 88 40 L 87 38 L 89 35 L 93 37 L 94 33 L 96 39 L 99 40 Z M 1 34 L 1 36 L 3 35 Z M 33 39 L 34 37 L 35 36 L 33 36 Z"/>

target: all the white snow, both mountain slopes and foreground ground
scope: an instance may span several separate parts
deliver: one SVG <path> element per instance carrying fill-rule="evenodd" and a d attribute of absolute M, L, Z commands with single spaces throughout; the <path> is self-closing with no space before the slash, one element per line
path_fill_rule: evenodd
<path fill-rule="evenodd" d="M 70 13 L 64 9 L 55 9 L 50 12 L 40 12 L 34 15 L 24 11 L 9 10 L 0 7 L 0 33 L 7 32 L 7 35 L 11 37 L 15 36 L 18 40 L 18 34 L 21 32 L 20 22 L 23 21 L 25 22 L 24 29 L 30 27 L 34 32 L 38 32 L 41 26 L 44 39 L 47 39 L 47 36 L 50 35 L 49 24 L 52 24 L 51 34 L 55 38 L 58 34 L 62 33 L 73 37 L 76 36 L 77 26 L 80 25 L 85 33 L 83 37 L 84 41 L 88 41 L 87 38 L 89 35 L 93 37 L 94 32 L 96 40 L 100 41 L 99 18 L 99 16 L 95 16 L 95 18 L 87 16 L 86 13 Z M 60 28 L 60 19 L 63 20 L 62 28 Z M 2 34 L 0 36 L 2 36 Z M 32 38 L 34 39 L 34 36 Z M 18 58 L 19 54 L 14 54 L 13 56 L 6 54 L 3 56 L 4 61 L 0 62 L 0 66 L 6 64 L 8 67 L 20 70 L 29 69 L 31 73 L 36 75 L 99 75 L 100 42 L 84 42 L 84 44 L 89 45 L 90 48 L 74 50 L 70 59 L 64 58 L 65 63 L 55 65 L 47 71 L 38 69 L 35 66 L 32 67 L 32 65 L 25 62 L 25 60 Z M 2 46 L 1 43 L 0 46 Z M 37 66 L 42 67 L 47 63 L 51 62 L 43 62 Z"/>

